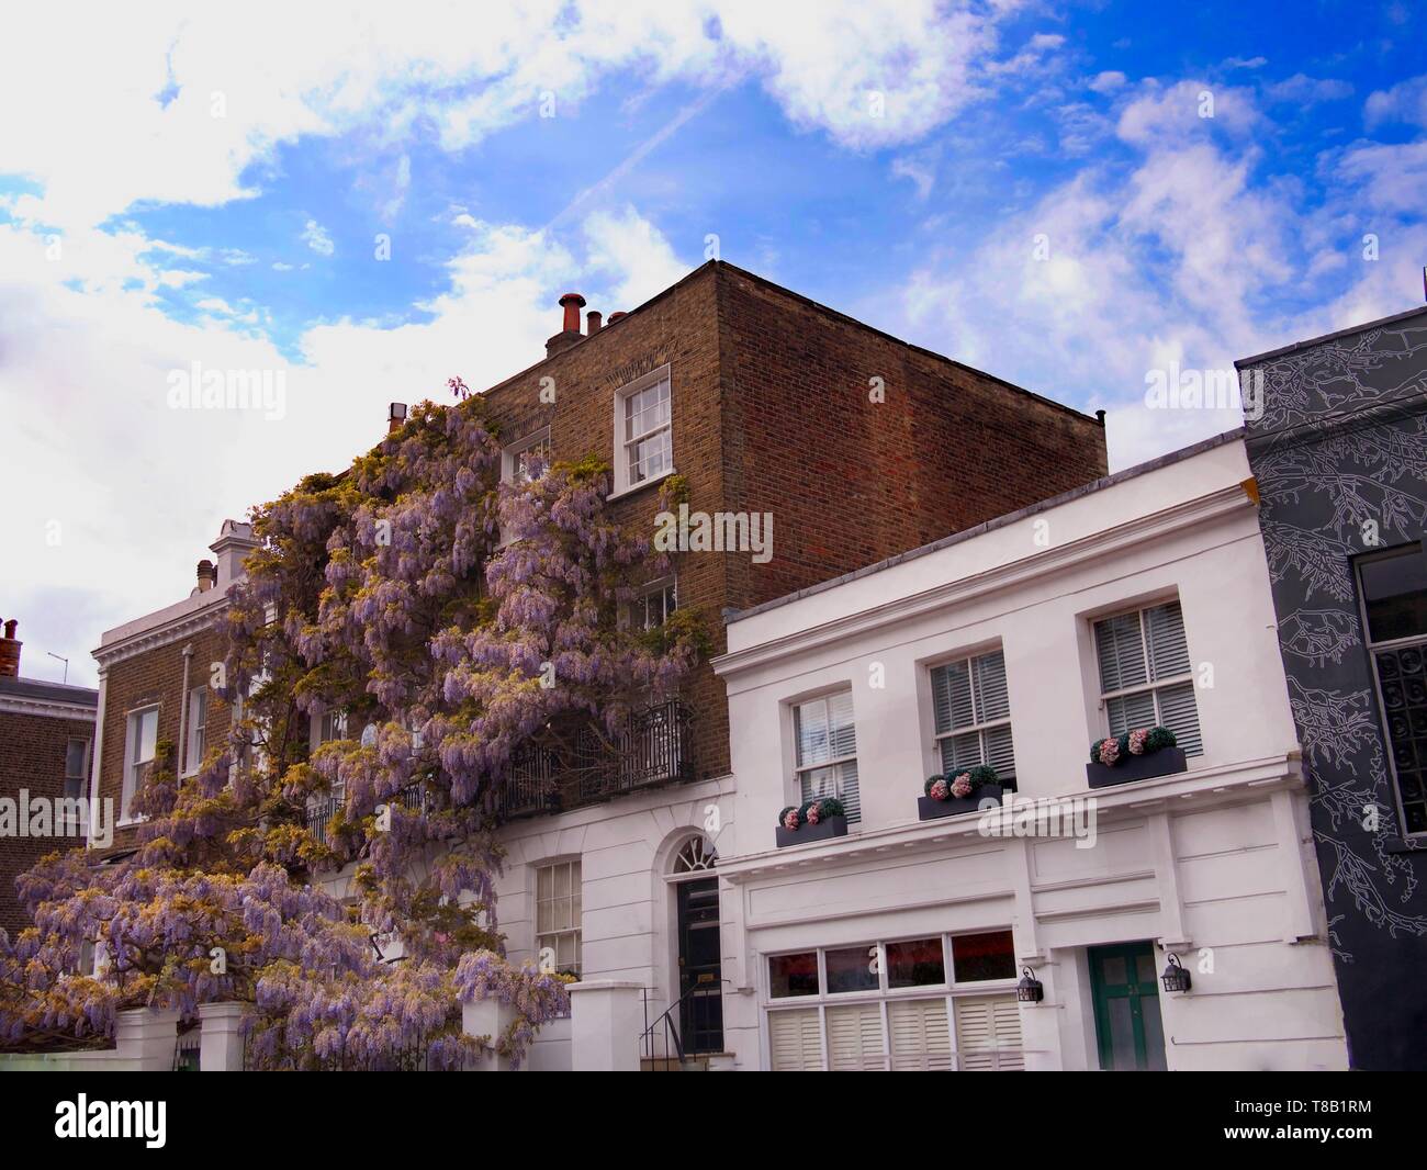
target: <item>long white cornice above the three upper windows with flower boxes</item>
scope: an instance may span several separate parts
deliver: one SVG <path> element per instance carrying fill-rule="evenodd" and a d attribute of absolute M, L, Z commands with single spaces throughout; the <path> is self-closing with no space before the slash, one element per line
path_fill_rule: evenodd
<path fill-rule="evenodd" d="M 769 662 L 776 662 L 788 655 L 803 653 L 845 638 L 870 634 L 883 626 L 919 618 L 923 614 L 943 609 L 949 605 L 965 604 L 997 589 L 1026 585 L 1050 574 L 1065 572 L 1092 558 L 1104 558 L 1122 549 L 1143 545 L 1147 541 L 1163 539 L 1187 528 L 1251 507 L 1253 502 L 1244 492 L 1243 485 L 1233 484 L 1209 495 L 1163 508 L 1159 512 L 1136 517 L 1114 528 L 1092 532 L 1089 536 L 1070 541 L 1059 548 L 1049 548 L 1045 552 L 1023 556 L 1005 565 L 996 565 L 972 576 L 948 581 L 943 585 L 935 585 L 930 589 L 895 598 L 882 605 L 860 609 L 856 614 L 846 614 L 822 625 L 759 642 L 748 649 L 719 655 L 712 661 L 714 671 L 729 678 Z M 895 571 L 895 568 L 890 566 L 889 571 Z"/>

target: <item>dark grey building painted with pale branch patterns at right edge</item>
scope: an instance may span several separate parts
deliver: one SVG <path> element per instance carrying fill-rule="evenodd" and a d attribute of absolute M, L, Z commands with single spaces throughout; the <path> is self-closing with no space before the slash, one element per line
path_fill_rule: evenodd
<path fill-rule="evenodd" d="M 1427 308 L 1237 365 L 1349 1056 L 1427 1069 Z"/>

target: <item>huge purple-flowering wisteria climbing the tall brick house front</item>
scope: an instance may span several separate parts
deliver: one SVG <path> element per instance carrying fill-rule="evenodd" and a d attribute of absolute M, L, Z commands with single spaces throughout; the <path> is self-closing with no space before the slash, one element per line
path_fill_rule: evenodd
<path fill-rule="evenodd" d="M 197 775 L 160 745 L 141 845 L 53 855 L 20 882 L 34 927 L 0 937 L 0 1043 L 111 1033 L 130 1006 L 253 1004 L 260 1066 L 519 1060 L 564 980 L 505 957 L 494 879 L 502 782 L 578 726 L 611 735 L 706 649 L 696 614 L 621 621 L 669 571 L 606 508 L 608 469 L 502 484 L 479 397 L 424 402 L 341 475 L 254 514 L 225 614 L 231 732 Z M 666 481 L 665 495 L 682 491 Z M 342 732 L 310 751 L 308 725 Z M 332 812 L 311 816 L 311 808 Z M 78 973 L 97 945 L 94 975 Z M 501 1036 L 461 1003 L 511 1009 Z"/>

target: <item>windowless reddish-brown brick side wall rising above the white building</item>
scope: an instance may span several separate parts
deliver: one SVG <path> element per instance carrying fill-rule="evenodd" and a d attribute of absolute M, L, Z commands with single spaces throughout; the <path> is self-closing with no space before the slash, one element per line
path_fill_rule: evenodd
<path fill-rule="evenodd" d="M 1104 475 L 1096 419 L 723 274 L 723 507 L 773 514 L 773 559 L 731 558 L 735 608 Z"/>

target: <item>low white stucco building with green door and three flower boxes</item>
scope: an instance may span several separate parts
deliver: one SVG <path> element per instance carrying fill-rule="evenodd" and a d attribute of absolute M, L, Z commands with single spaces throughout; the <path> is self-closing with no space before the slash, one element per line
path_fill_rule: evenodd
<path fill-rule="evenodd" d="M 1224 437 L 731 619 L 736 1067 L 1346 1067 L 1256 498 Z M 1090 742 L 1153 723 L 1187 770 L 1092 789 Z M 919 820 L 977 760 L 1079 836 Z M 776 848 L 833 790 L 848 833 Z M 586 875 L 586 923 L 614 900 Z"/>

